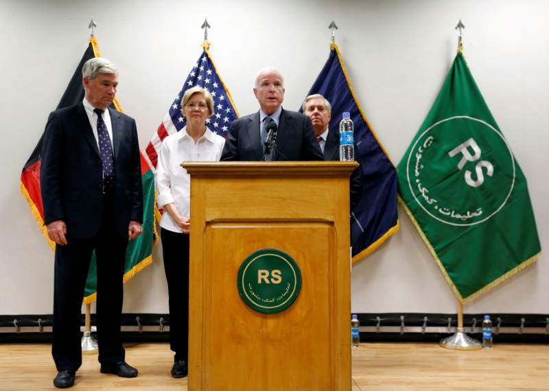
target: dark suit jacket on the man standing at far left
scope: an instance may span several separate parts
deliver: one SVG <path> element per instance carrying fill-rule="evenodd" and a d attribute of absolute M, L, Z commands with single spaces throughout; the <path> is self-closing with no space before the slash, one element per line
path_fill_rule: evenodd
<path fill-rule="evenodd" d="M 108 109 L 113 125 L 117 231 L 128 236 L 130 220 L 143 222 L 141 156 L 135 121 Z M 71 238 L 90 238 L 100 228 L 103 169 L 82 103 L 53 111 L 42 146 L 40 188 L 44 223 L 63 220 Z"/>

